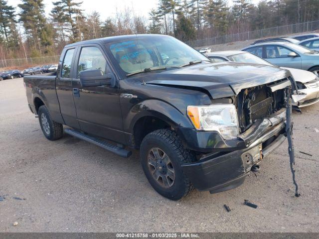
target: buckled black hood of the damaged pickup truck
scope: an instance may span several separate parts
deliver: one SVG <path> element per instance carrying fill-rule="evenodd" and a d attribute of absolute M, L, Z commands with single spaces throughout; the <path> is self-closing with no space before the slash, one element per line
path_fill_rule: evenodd
<path fill-rule="evenodd" d="M 205 91 L 212 99 L 237 95 L 242 89 L 284 79 L 279 67 L 236 62 L 207 63 L 152 75 L 147 84 Z"/>

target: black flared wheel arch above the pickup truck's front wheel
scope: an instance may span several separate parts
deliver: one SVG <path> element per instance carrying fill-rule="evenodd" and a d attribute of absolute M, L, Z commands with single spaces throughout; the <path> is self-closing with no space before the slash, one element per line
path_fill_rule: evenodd
<path fill-rule="evenodd" d="M 128 115 L 124 117 L 124 131 L 133 133 L 136 122 L 146 116 L 159 118 L 167 122 L 173 128 L 193 127 L 187 116 L 182 114 L 175 107 L 164 101 L 152 99 L 145 100 L 132 107 Z"/>

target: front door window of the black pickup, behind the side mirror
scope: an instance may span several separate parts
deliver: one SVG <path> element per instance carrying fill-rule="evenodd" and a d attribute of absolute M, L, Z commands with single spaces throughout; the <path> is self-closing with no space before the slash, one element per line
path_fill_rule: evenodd
<path fill-rule="evenodd" d="M 99 48 L 94 46 L 83 47 L 78 64 L 78 76 L 80 71 L 101 70 L 106 72 L 106 60 Z"/>

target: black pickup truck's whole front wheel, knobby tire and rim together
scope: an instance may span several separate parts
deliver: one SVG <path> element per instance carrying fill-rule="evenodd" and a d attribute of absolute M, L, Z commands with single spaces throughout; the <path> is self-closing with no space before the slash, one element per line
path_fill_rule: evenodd
<path fill-rule="evenodd" d="M 179 200 L 192 189 L 181 165 L 193 161 L 176 133 L 159 129 L 145 136 L 140 148 L 144 173 L 153 188 L 163 197 Z"/>

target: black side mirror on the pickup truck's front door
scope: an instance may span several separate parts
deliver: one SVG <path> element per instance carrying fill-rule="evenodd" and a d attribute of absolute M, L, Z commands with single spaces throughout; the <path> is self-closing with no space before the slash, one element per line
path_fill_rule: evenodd
<path fill-rule="evenodd" d="M 80 83 L 82 87 L 110 86 L 115 87 L 113 74 L 105 74 L 101 70 L 80 71 Z"/>

